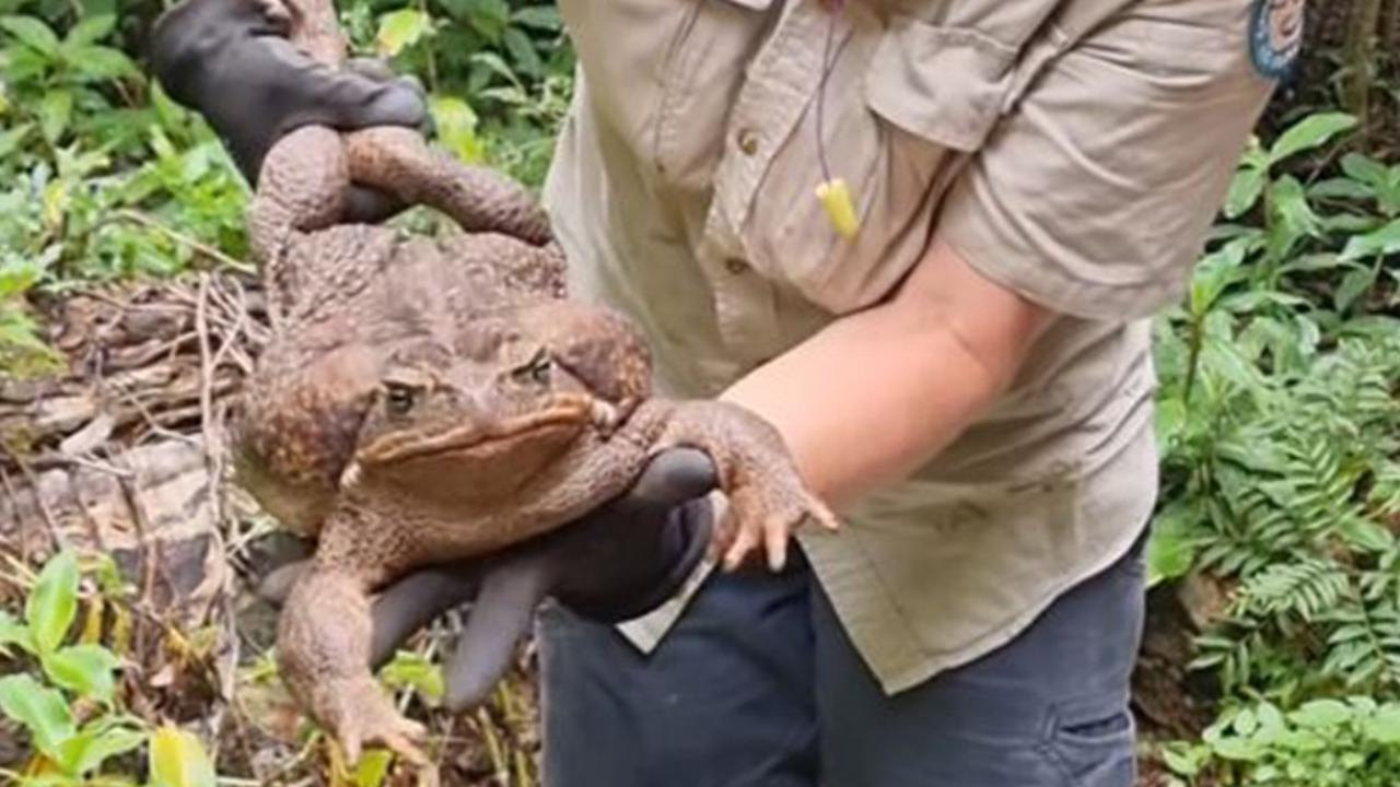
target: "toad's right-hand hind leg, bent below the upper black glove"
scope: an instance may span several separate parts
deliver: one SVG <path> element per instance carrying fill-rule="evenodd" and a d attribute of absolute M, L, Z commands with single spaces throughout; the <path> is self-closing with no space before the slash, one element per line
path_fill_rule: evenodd
<path fill-rule="evenodd" d="M 500 232 L 543 245 L 549 218 L 524 186 L 434 150 L 413 129 L 381 126 L 346 136 L 350 176 L 409 204 L 427 204 L 468 232 Z"/>

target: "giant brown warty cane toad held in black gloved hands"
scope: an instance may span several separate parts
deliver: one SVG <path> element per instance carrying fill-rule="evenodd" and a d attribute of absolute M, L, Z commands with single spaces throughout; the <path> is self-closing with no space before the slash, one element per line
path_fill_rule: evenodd
<path fill-rule="evenodd" d="M 518 192 L 424 150 L 403 129 L 297 130 L 269 153 L 249 217 L 276 321 L 237 464 L 265 507 L 318 535 L 277 657 L 351 759 L 382 742 L 421 760 L 421 730 L 367 667 L 371 594 L 413 569 L 563 527 L 671 447 L 714 461 L 721 546 L 771 552 L 806 518 L 836 527 L 766 422 L 651 395 L 643 337 L 563 298 L 557 248 L 521 239 L 542 238 Z M 351 179 L 496 231 L 337 224 Z"/>

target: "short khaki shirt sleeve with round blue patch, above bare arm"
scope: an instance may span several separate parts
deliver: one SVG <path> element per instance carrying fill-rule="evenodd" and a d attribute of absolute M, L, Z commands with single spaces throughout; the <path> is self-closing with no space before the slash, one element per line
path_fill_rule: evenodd
<path fill-rule="evenodd" d="M 937 234 L 1054 311 L 1127 321 L 1186 288 L 1274 83 L 1249 7 L 1142 3 L 1036 74 L 944 199 Z"/>

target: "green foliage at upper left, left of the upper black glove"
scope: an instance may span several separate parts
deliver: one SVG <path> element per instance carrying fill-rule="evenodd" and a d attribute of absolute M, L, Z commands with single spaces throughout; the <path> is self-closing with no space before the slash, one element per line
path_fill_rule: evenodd
<path fill-rule="evenodd" d="M 45 371 L 34 295 L 169 274 L 244 249 L 244 185 L 218 141 L 108 45 L 115 17 L 60 31 L 0 17 L 0 371 Z"/>

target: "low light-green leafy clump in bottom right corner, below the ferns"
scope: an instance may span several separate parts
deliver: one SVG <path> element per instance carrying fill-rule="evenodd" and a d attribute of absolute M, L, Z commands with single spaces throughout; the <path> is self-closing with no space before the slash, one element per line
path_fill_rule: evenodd
<path fill-rule="evenodd" d="M 1400 704 L 1322 699 L 1292 711 L 1261 702 L 1218 718 L 1198 744 L 1163 752 L 1183 784 L 1389 787 L 1400 773 Z"/>

